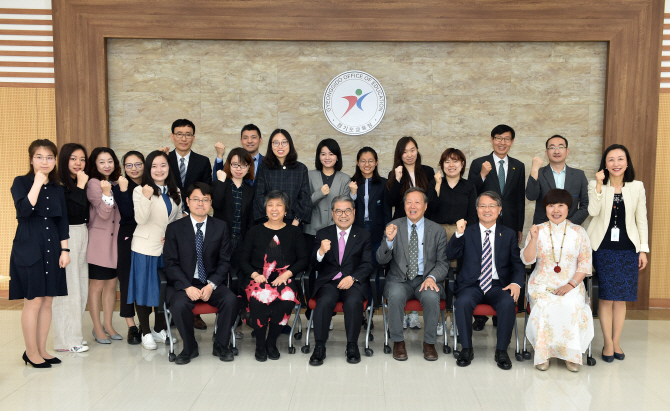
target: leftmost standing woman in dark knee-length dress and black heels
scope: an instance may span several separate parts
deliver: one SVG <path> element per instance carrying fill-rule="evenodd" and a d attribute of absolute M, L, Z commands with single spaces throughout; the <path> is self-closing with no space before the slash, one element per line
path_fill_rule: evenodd
<path fill-rule="evenodd" d="M 61 362 L 47 352 L 46 344 L 53 297 L 67 295 L 70 234 L 56 145 L 35 140 L 28 153 L 30 170 L 14 179 L 11 190 L 18 226 L 9 259 L 9 299 L 23 299 L 23 361 L 48 368 Z"/>

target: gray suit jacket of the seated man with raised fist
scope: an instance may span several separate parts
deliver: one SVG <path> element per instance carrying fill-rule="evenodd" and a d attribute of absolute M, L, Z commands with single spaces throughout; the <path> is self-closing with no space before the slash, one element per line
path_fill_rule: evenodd
<path fill-rule="evenodd" d="M 407 217 L 391 221 L 398 227 L 398 234 L 393 239 L 393 249 L 386 245 L 386 233 L 377 249 L 377 262 L 387 264 L 391 262 L 391 269 L 386 275 L 386 281 L 401 283 L 407 281 L 409 267 L 409 232 Z M 424 218 L 423 228 L 423 277 L 432 275 L 436 283 L 441 283 L 447 277 L 449 260 L 447 260 L 447 233 L 441 225 Z"/>

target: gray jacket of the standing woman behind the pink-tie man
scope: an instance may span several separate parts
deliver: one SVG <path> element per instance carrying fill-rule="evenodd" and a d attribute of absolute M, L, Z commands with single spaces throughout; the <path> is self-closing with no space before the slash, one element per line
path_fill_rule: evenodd
<path fill-rule="evenodd" d="M 327 196 L 321 192 L 321 187 L 323 187 L 321 171 L 310 170 L 307 177 L 309 178 L 309 190 L 312 193 L 312 219 L 309 224 L 305 224 L 305 233 L 316 235 L 320 229 L 335 224 L 333 214 L 330 212 L 330 203 L 333 198 L 351 192 L 349 190 L 351 177 L 341 171 L 336 171 L 333 183 L 330 185 L 330 193 Z"/>

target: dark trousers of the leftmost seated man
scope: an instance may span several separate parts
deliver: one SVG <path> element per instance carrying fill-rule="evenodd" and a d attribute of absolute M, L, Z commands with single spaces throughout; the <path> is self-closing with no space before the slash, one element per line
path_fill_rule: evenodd
<path fill-rule="evenodd" d="M 197 280 L 192 285 L 199 289 L 205 286 Z M 186 295 L 186 291 L 175 290 L 171 285 L 168 285 L 166 297 L 175 325 L 182 340 L 184 340 L 184 351 L 190 354 L 198 348 L 198 343 L 195 341 L 195 332 L 193 331 L 192 310 L 195 308 L 195 303 L 201 300 L 191 301 Z M 216 307 L 219 311 L 216 319 L 216 340 L 226 347 L 230 343 L 230 329 L 239 311 L 238 298 L 228 287 L 220 285 L 212 292 L 209 301 L 206 301 L 206 303 Z"/>

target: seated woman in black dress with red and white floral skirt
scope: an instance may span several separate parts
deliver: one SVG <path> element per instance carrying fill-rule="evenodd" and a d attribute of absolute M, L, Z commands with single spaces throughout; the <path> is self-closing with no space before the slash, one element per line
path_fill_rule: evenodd
<path fill-rule="evenodd" d="M 277 337 L 298 303 L 298 284 L 292 277 L 309 261 L 302 230 L 284 222 L 291 207 L 288 196 L 270 191 L 264 203 L 268 221 L 249 230 L 240 252 L 240 271 L 248 284 L 246 321 L 255 330 L 256 360 L 261 362 L 279 359 Z"/>

